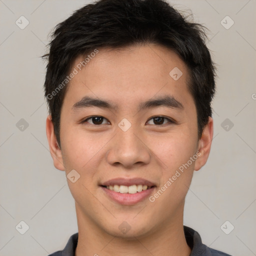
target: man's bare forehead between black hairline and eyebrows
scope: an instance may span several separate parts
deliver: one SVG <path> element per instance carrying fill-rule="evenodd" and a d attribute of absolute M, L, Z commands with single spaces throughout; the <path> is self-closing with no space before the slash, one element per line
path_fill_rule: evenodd
<path fill-rule="evenodd" d="M 190 96 L 191 100 L 185 63 L 174 51 L 160 45 L 98 48 L 78 56 L 70 70 L 74 69 L 77 73 L 65 95 L 73 102 L 85 94 L 103 96 L 125 106 L 136 99 L 164 94 L 186 100 Z"/>

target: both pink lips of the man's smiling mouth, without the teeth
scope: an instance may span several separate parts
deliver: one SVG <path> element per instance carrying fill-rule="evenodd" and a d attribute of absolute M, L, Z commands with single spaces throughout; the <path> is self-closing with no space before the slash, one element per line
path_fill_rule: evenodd
<path fill-rule="evenodd" d="M 119 193 L 119 192 L 115 192 L 113 190 L 107 189 L 105 186 L 109 186 L 109 185 L 124 185 L 124 186 L 130 186 L 130 185 L 147 185 L 148 189 L 146 190 L 142 190 L 141 192 L 136 192 L 133 194 L 129 194 L 129 193 Z M 149 197 L 150 194 L 153 192 L 153 190 L 155 189 L 156 185 L 155 183 L 144 179 L 144 178 L 113 178 L 113 179 L 109 179 L 105 182 L 103 182 L 102 184 L 100 184 L 101 189 L 106 193 L 107 197 L 109 197 L 111 200 L 119 203 L 119 204 L 123 204 L 123 205 L 132 205 L 132 204 L 136 204 L 142 200 L 144 200 L 145 198 Z"/>

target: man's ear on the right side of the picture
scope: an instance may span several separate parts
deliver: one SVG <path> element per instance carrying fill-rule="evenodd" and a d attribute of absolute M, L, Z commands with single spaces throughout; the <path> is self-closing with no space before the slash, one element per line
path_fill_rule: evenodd
<path fill-rule="evenodd" d="M 194 170 L 199 170 L 207 161 L 213 136 L 213 119 L 209 116 L 208 123 L 204 126 L 201 138 L 198 142 L 198 157 L 195 161 Z"/>

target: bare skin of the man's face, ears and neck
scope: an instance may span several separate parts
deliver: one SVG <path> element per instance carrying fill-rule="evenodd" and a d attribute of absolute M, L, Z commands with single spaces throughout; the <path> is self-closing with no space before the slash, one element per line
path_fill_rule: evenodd
<path fill-rule="evenodd" d="M 79 56 L 73 67 L 81 60 Z M 176 81 L 169 75 L 175 66 L 183 73 Z M 213 122 L 209 117 L 198 138 L 187 81 L 188 69 L 178 55 L 152 44 L 99 49 L 71 79 L 61 108 L 61 149 L 50 115 L 46 133 L 54 166 L 66 175 L 72 169 L 80 175 L 74 183 L 67 178 L 79 233 L 75 256 L 190 254 L 183 232 L 184 199 L 193 171 L 209 155 Z M 183 109 L 158 106 L 137 111 L 140 102 L 166 94 Z M 111 100 L 118 109 L 93 106 L 72 111 L 85 95 Z M 93 124 L 92 119 L 82 122 L 91 115 L 105 119 L 102 124 Z M 155 124 L 154 116 L 175 122 L 164 119 Z M 131 123 L 126 131 L 118 127 L 122 118 Z M 197 151 L 200 156 L 153 202 L 146 198 L 121 205 L 99 186 L 115 177 L 142 177 L 156 184 L 155 193 Z M 118 228 L 123 221 L 131 227 L 126 233 Z"/>

